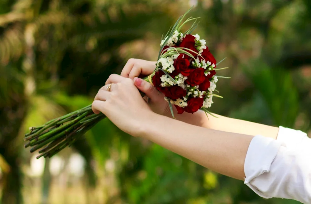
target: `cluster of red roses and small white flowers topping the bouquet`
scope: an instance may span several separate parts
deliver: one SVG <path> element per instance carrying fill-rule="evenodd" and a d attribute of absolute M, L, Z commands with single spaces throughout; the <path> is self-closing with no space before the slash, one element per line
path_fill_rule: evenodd
<path fill-rule="evenodd" d="M 213 103 L 212 97 L 221 97 L 213 93 L 218 81 L 216 60 L 206 41 L 198 34 L 191 34 L 197 26 L 196 19 L 188 18 L 185 22 L 195 21 L 190 29 L 181 33 L 182 17 L 161 41 L 156 70 L 151 78 L 169 106 L 173 104 L 179 114 L 184 111 L 194 113 L 199 109 L 211 114 L 207 108 Z"/>

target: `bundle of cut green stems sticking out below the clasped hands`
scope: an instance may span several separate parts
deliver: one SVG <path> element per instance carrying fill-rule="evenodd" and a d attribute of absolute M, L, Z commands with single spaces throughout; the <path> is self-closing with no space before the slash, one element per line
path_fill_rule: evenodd
<path fill-rule="evenodd" d="M 149 82 L 148 77 L 144 80 Z M 145 96 L 141 92 L 142 97 Z M 71 146 L 79 136 L 85 134 L 100 120 L 106 116 L 102 113 L 95 114 L 92 111 L 92 105 L 81 108 L 67 115 L 55 118 L 38 127 L 30 127 L 30 132 L 25 134 L 25 148 L 32 147 L 30 153 L 39 150 L 40 157 L 52 157 L 67 146 Z"/>

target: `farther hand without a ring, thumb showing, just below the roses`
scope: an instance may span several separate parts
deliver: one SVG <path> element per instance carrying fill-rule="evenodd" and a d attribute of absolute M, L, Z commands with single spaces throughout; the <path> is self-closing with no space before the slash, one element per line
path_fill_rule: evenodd
<path fill-rule="evenodd" d="M 155 69 L 155 61 L 129 59 L 121 72 L 121 76 L 132 79 L 135 86 L 146 94 L 148 97 L 146 101 L 153 112 L 171 116 L 169 104 L 164 100 L 164 95 L 156 90 L 151 83 L 138 78 L 141 75 L 150 75 Z"/>

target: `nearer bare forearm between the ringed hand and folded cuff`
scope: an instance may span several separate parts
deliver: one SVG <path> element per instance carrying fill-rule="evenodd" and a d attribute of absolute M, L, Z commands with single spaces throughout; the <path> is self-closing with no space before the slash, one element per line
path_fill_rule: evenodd
<path fill-rule="evenodd" d="M 206 129 L 157 114 L 151 121 L 146 121 L 142 137 L 208 169 L 243 180 L 253 136 Z"/>

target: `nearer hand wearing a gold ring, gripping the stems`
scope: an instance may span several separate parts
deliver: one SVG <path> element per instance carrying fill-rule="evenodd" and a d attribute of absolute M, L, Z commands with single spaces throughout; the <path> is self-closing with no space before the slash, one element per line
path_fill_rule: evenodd
<path fill-rule="evenodd" d="M 95 114 L 102 112 L 118 128 L 134 137 L 141 136 L 144 126 L 151 122 L 155 114 L 133 80 L 116 74 L 110 75 L 106 85 L 100 88 L 92 103 L 92 110 Z"/>

